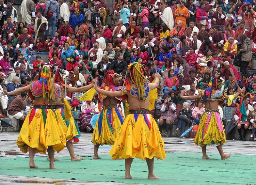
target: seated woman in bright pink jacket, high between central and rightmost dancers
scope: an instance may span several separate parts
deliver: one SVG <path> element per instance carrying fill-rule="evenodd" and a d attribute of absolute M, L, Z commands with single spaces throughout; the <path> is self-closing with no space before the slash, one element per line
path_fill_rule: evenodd
<path fill-rule="evenodd" d="M 187 61 L 185 65 L 184 77 L 188 77 L 188 73 L 190 70 L 196 71 L 196 59 L 198 55 L 195 53 L 195 48 L 191 47 L 185 56 L 185 60 Z"/>

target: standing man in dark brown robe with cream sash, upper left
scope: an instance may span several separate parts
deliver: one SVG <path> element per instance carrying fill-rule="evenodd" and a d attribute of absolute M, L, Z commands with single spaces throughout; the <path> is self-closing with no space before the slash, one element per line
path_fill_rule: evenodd
<path fill-rule="evenodd" d="M 44 33 L 45 30 L 48 29 L 48 21 L 46 18 L 42 17 L 42 12 L 38 11 L 36 13 L 36 20 L 35 20 L 35 42 L 37 38 L 41 38 L 44 40 Z M 44 40 L 45 41 L 45 40 Z"/>

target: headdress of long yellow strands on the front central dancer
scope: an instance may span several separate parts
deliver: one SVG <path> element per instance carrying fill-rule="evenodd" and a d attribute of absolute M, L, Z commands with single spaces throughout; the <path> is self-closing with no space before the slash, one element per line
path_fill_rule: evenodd
<path fill-rule="evenodd" d="M 131 84 L 137 85 L 139 98 L 142 100 L 145 99 L 144 82 L 148 82 L 148 79 L 145 77 L 145 69 L 143 65 L 138 62 L 128 65 L 124 86 L 126 86 L 129 91 L 131 89 Z"/>

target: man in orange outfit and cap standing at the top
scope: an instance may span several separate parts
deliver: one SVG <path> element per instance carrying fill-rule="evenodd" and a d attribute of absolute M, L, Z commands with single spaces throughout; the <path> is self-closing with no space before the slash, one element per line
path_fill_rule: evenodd
<path fill-rule="evenodd" d="M 176 11 L 173 13 L 173 16 L 175 17 L 175 25 L 177 25 L 178 21 L 182 21 L 181 27 L 186 27 L 186 19 L 189 18 L 189 11 L 185 7 L 185 1 L 180 1 L 180 7 L 176 9 Z"/>

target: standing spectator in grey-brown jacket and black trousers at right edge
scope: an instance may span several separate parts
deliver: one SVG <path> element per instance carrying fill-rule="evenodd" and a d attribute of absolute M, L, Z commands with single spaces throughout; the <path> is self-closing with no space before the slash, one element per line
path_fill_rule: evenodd
<path fill-rule="evenodd" d="M 247 38 L 247 36 L 245 34 L 239 35 L 238 39 L 240 42 L 243 43 L 242 48 L 240 49 L 240 52 L 242 53 L 241 73 L 242 73 L 242 76 L 246 75 L 246 74 L 250 76 L 250 73 L 247 71 L 247 66 L 248 66 L 249 62 L 251 62 L 251 60 L 252 60 L 251 42 L 250 42 L 250 39 Z"/>

